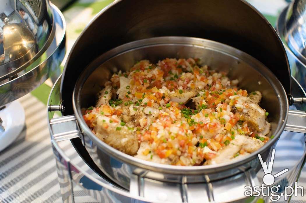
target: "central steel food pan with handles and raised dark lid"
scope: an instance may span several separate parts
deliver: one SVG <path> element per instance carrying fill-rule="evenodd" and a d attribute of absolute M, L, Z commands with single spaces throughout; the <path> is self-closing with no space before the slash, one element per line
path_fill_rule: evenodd
<path fill-rule="evenodd" d="M 241 87 L 263 93 L 262 106 L 271 115 L 274 138 L 243 159 L 194 167 L 139 160 L 96 138 L 82 118 L 81 107 L 93 104 L 92 98 L 113 72 L 126 70 L 137 60 L 154 62 L 165 57 L 199 57 L 215 69 L 230 67 L 229 76 L 238 78 Z M 179 188 L 185 201 L 187 187 L 200 192 L 202 183 L 207 183 L 207 194 L 201 195 L 214 199 L 209 185 L 214 181 L 227 179 L 229 187 L 240 187 L 239 179 L 256 184 L 257 154 L 266 159 L 284 129 L 306 132 L 305 112 L 289 111 L 289 103 L 301 101 L 293 99 L 290 90 L 290 69 L 281 40 L 245 1 L 122 0 L 95 17 L 73 46 L 63 73 L 61 101 L 50 101 L 49 106 L 49 111 L 62 111 L 62 117 L 50 121 L 50 131 L 55 141 L 81 141 L 96 166 L 132 194 L 146 196 L 150 188 L 162 187 L 168 195 L 175 195 L 173 189 Z M 82 146 L 77 148 L 82 150 Z"/>

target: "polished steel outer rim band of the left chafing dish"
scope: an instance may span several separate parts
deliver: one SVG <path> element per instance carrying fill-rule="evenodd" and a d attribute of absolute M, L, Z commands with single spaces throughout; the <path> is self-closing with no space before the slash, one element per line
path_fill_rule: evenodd
<path fill-rule="evenodd" d="M 0 84 L 0 105 L 5 105 L 34 90 L 50 76 L 60 73 L 60 64 L 65 56 L 65 20 L 62 13 L 51 4 L 54 37 L 43 54 L 31 65 L 19 72 L 18 77 Z"/>

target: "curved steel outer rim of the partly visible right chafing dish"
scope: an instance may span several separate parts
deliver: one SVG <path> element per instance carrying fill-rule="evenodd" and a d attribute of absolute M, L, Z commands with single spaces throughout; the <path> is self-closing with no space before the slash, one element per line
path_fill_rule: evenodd
<path fill-rule="evenodd" d="M 286 26 L 287 13 L 288 13 L 288 7 L 285 8 L 280 13 L 276 24 L 276 30 L 284 43 L 290 64 L 291 74 L 295 79 L 297 79 L 298 83 L 300 83 L 300 85 L 304 88 L 304 90 L 306 90 L 306 64 L 295 55 L 295 53 L 289 47 L 285 39 L 284 30 Z"/>

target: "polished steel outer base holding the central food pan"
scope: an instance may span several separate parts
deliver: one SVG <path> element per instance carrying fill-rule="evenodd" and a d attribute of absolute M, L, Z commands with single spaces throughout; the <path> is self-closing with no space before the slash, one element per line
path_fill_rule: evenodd
<path fill-rule="evenodd" d="M 50 97 L 48 100 L 48 105 L 60 104 L 60 94 L 59 94 L 60 80 L 61 77 L 54 84 L 54 87 L 51 90 Z M 300 94 L 303 94 L 303 92 L 300 93 L 299 89 L 295 89 L 293 93 L 295 93 L 293 94 L 293 96 L 295 97 L 298 97 L 300 96 Z M 48 116 L 49 119 L 52 119 L 53 115 L 50 112 L 48 112 L 48 114 L 49 114 Z M 291 135 L 290 137 L 292 137 L 293 133 L 290 135 Z M 61 146 L 62 144 L 63 146 L 66 146 L 67 142 L 70 141 L 65 140 L 65 141 L 56 142 L 54 139 L 52 139 L 52 146 L 53 146 L 54 155 L 56 157 L 58 178 L 61 186 L 63 202 L 74 201 L 75 195 L 77 195 L 77 193 L 75 192 L 78 192 L 74 191 L 74 184 L 80 186 L 83 191 L 88 193 L 88 195 L 91 195 L 92 197 L 96 198 L 97 201 L 100 199 L 101 202 L 111 202 L 111 203 L 113 202 L 196 203 L 196 202 L 208 202 L 208 201 L 255 203 L 258 201 L 259 198 L 259 197 L 249 197 L 249 198 L 244 197 L 242 199 L 240 198 L 241 194 L 243 195 L 245 191 L 245 189 L 243 188 L 245 184 L 258 185 L 258 182 L 252 182 L 256 181 L 256 177 L 254 177 L 255 174 L 254 173 L 248 174 L 248 172 L 235 175 L 230 179 L 210 181 L 210 183 L 200 183 L 200 184 L 196 183 L 181 184 L 183 183 L 184 179 L 182 179 L 181 183 L 175 184 L 169 182 L 152 181 L 150 179 L 146 179 L 145 177 L 143 178 L 143 180 L 140 179 L 141 184 L 139 184 L 134 182 L 139 178 L 139 176 L 132 175 L 131 184 L 135 186 L 135 188 L 133 188 L 134 190 L 131 190 L 130 192 L 125 191 L 117 186 L 112 185 L 110 182 L 107 182 L 103 178 L 99 177 L 96 171 L 93 168 L 90 168 L 92 167 L 91 165 L 89 165 L 89 167 L 87 168 L 80 167 L 80 165 L 78 164 L 79 159 L 81 160 L 83 159 L 85 162 L 89 160 L 84 159 L 84 157 L 76 159 L 74 154 L 71 155 L 71 150 L 69 150 L 69 153 L 66 153 L 65 149 L 63 149 Z M 305 143 L 303 144 L 303 148 L 304 147 Z M 304 149 L 304 153 L 303 155 L 301 155 L 300 159 L 298 159 L 293 165 L 293 167 L 289 169 L 289 172 L 286 173 L 287 175 L 277 180 L 278 183 L 288 183 L 288 185 L 291 185 L 293 182 L 296 181 L 297 179 L 296 175 L 299 172 L 301 164 L 303 163 L 305 154 L 306 154 L 306 148 Z M 89 162 L 87 163 L 89 164 Z M 116 166 L 116 164 L 114 164 L 113 167 L 114 166 Z M 259 180 L 262 179 L 262 177 L 259 174 L 257 174 L 256 176 L 259 178 Z M 140 178 L 142 177 L 140 176 Z M 86 185 L 84 183 L 86 183 Z M 170 192 L 170 195 L 167 192 Z M 267 200 L 265 202 L 269 201 Z"/>

